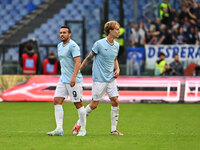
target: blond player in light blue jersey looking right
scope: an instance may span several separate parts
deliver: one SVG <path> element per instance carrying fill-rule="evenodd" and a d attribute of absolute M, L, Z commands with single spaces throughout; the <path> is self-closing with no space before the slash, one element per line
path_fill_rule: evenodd
<path fill-rule="evenodd" d="M 81 64 L 82 70 L 91 60 L 93 61 L 92 68 L 92 101 L 86 107 L 86 116 L 88 116 L 108 94 L 111 101 L 111 135 L 123 135 L 117 128 L 119 117 L 118 104 L 118 89 L 116 78 L 119 76 L 119 64 L 117 55 L 119 52 L 119 44 L 114 41 L 119 37 L 120 25 L 116 21 L 109 21 L 104 26 L 106 38 L 98 40 L 92 47 L 92 51 Z M 73 133 L 77 133 L 81 127 L 80 120 L 74 126 Z"/>

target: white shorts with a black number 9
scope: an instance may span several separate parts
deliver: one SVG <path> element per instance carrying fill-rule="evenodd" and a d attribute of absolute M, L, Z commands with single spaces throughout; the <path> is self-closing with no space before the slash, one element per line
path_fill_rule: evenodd
<path fill-rule="evenodd" d="M 70 97 L 71 102 L 80 102 L 82 101 L 83 96 L 83 82 L 76 83 L 75 86 L 71 87 L 70 84 L 65 84 L 58 82 L 56 86 L 56 91 L 54 97 Z"/>

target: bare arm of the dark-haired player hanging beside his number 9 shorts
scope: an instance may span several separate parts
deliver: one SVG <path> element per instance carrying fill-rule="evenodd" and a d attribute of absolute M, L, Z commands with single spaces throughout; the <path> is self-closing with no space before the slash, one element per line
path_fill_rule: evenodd
<path fill-rule="evenodd" d="M 71 87 L 73 87 L 76 83 L 76 76 L 77 76 L 79 68 L 81 66 L 81 57 L 80 56 L 75 57 L 74 61 L 75 61 L 75 67 L 74 67 L 74 73 L 73 73 L 71 81 L 70 81 Z"/>

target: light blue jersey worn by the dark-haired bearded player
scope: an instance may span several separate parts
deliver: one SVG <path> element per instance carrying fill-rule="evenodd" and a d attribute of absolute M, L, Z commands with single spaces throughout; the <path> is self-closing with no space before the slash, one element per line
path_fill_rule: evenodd
<path fill-rule="evenodd" d="M 74 57 L 80 56 L 80 48 L 73 40 L 70 40 L 65 45 L 63 45 L 63 42 L 59 43 L 57 50 L 61 65 L 60 82 L 70 83 L 75 67 Z M 76 82 L 79 83 L 82 81 L 83 76 L 79 71 L 76 76 Z"/>

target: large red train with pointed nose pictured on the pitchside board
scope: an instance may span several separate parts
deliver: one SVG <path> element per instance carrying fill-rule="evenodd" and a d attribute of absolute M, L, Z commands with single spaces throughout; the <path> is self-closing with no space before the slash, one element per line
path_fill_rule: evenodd
<path fill-rule="evenodd" d="M 1 94 L 1 101 L 53 101 L 59 76 L 33 76 L 26 82 L 13 86 Z M 128 78 L 119 77 L 119 102 L 167 101 L 178 102 L 179 78 Z M 83 101 L 92 99 L 92 78 L 84 77 Z M 69 101 L 69 99 L 66 99 Z M 110 102 L 105 95 L 103 102 Z"/>

